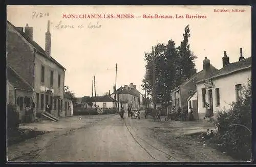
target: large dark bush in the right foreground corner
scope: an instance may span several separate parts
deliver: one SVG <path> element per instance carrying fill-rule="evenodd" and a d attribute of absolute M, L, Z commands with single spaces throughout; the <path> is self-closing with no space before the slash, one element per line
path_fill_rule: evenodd
<path fill-rule="evenodd" d="M 236 124 L 236 125 L 230 125 Z M 242 98 L 228 111 L 219 111 L 214 123 L 218 132 L 212 141 L 219 148 L 242 160 L 251 158 L 251 82 L 242 89 Z M 247 128 L 245 128 L 245 127 Z"/>

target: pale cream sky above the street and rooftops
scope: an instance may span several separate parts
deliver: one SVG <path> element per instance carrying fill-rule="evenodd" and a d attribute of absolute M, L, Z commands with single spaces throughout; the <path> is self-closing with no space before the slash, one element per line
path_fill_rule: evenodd
<path fill-rule="evenodd" d="M 218 10 L 229 11 L 215 12 Z M 101 18 L 68 18 L 69 14 L 100 14 Z M 133 18 L 107 18 L 108 14 L 130 14 Z M 143 17 L 156 14 L 174 18 Z M 183 18 L 176 18 L 179 16 Z M 16 27 L 26 23 L 33 27 L 33 40 L 43 49 L 50 20 L 51 56 L 67 69 L 65 85 L 76 97 L 91 96 L 93 76 L 96 94 L 113 92 L 116 64 L 117 88 L 133 83 L 143 93 L 144 52 L 170 39 L 179 46 L 187 25 L 190 49 L 198 57 L 197 71 L 202 70 L 205 57 L 222 68 L 224 51 L 230 62 L 238 61 L 240 47 L 245 58 L 251 56 L 249 6 L 7 6 L 7 20 Z M 73 28 L 61 29 L 60 21 L 60 25 Z"/>

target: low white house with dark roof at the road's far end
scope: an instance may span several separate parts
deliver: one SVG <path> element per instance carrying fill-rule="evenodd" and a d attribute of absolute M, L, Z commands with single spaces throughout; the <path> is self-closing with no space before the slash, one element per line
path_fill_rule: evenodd
<path fill-rule="evenodd" d="M 99 108 L 114 108 L 115 102 L 116 104 L 118 101 L 115 101 L 115 99 L 111 98 L 110 96 L 98 96 L 98 97 L 91 97 L 90 101 L 93 102 L 93 107 L 95 107 L 95 104 Z"/>

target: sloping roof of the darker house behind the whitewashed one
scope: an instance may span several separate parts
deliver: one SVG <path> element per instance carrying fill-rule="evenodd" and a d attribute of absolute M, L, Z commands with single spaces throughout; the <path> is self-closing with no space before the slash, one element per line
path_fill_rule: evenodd
<path fill-rule="evenodd" d="M 210 64 L 210 67 L 208 70 L 202 69 L 198 73 L 191 76 L 187 81 L 183 82 L 181 85 L 179 85 L 175 89 L 173 89 L 173 91 L 177 90 L 179 87 L 181 87 L 183 85 L 186 85 L 188 82 L 194 81 L 196 83 L 196 82 L 199 82 L 206 78 L 212 77 L 217 73 L 217 71 L 218 71 L 218 69 Z"/>

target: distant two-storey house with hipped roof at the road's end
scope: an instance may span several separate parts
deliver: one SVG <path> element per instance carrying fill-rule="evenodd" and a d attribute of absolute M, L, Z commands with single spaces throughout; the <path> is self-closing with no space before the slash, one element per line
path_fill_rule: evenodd
<path fill-rule="evenodd" d="M 115 98 L 115 92 L 111 94 L 111 97 Z M 124 110 L 127 110 L 128 107 L 131 107 L 132 110 L 139 110 L 143 106 L 143 95 L 133 83 L 129 86 L 124 85 L 124 87 L 118 88 L 116 90 L 116 100 L 122 104 Z"/>

